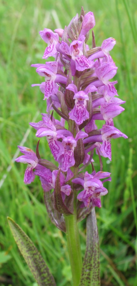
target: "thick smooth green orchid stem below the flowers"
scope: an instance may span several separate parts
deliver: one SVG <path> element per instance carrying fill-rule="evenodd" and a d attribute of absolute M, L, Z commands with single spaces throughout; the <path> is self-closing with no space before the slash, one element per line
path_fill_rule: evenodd
<path fill-rule="evenodd" d="M 68 254 L 72 271 L 73 286 L 79 285 L 82 271 L 82 256 L 76 218 L 76 196 L 77 193 L 74 191 L 74 215 L 65 216 Z"/>

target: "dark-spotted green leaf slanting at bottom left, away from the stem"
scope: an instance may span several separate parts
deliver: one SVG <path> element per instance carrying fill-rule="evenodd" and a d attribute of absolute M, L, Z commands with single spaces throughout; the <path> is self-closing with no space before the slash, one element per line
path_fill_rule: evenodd
<path fill-rule="evenodd" d="M 11 219 L 7 217 L 9 227 L 19 247 L 21 254 L 23 255 L 27 265 L 29 266 L 34 278 L 39 286 L 55 286 L 53 275 L 49 272 L 43 257 L 31 241 L 31 239 L 25 234 L 25 232 Z"/>

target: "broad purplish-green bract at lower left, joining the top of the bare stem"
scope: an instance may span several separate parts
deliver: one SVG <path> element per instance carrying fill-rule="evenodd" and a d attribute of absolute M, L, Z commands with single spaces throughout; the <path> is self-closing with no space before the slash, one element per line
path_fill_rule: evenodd
<path fill-rule="evenodd" d="M 63 214 L 55 209 L 54 193 L 44 192 L 44 202 L 51 222 L 61 231 L 66 232 Z"/>

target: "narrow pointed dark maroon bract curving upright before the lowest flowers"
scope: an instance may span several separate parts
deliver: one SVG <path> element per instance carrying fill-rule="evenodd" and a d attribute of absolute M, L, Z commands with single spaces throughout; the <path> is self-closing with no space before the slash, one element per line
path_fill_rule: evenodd
<path fill-rule="evenodd" d="M 63 202 L 62 194 L 61 194 L 61 183 L 60 183 L 60 174 L 61 169 L 59 169 L 55 181 L 55 191 L 54 191 L 54 198 L 55 198 L 55 208 L 58 212 L 64 215 L 72 215 L 72 212 L 67 208 L 67 206 Z"/>

